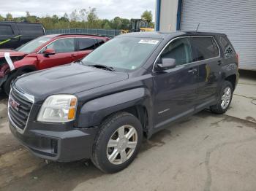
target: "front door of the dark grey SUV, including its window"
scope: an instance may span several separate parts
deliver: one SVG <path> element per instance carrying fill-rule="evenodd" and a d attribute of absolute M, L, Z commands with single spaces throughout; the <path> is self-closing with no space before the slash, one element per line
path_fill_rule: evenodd
<path fill-rule="evenodd" d="M 170 42 L 157 63 L 161 63 L 162 58 L 175 59 L 176 67 L 154 73 L 155 128 L 191 114 L 195 111 L 197 100 L 198 66 L 192 63 L 189 38 L 178 38 Z"/>

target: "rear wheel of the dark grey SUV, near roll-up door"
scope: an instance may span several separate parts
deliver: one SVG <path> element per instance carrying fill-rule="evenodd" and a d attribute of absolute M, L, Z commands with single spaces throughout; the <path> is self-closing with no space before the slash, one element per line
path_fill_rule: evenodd
<path fill-rule="evenodd" d="M 227 93 L 227 90 L 230 93 Z M 229 81 L 225 81 L 222 85 L 221 93 L 218 97 L 216 105 L 210 106 L 211 112 L 215 114 L 224 114 L 230 106 L 233 97 L 233 85 Z"/>

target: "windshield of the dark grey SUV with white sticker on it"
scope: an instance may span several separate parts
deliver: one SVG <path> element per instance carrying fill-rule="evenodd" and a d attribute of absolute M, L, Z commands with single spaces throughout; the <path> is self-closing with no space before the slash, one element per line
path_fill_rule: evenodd
<path fill-rule="evenodd" d="M 119 37 L 112 39 L 83 58 L 85 65 L 105 65 L 116 70 L 135 70 L 159 44 L 159 39 Z"/>

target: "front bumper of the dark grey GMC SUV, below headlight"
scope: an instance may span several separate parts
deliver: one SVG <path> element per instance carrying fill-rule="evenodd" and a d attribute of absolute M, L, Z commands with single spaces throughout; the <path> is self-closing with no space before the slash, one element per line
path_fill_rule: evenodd
<path fill-rule="evenodd" d="M 54 130 L 54 125 L 50 127 L 50 124 L 37 122 L 33 122 L 33 126 L 34 128 L 28 126 L 20 133 L 10 122 L 12 134 L 37 157 L 63 162 L 91 157 L 97 128 L 74 128 L 63 125 L 64 130 L 60 130 L 61 127 L 58 125 L 59 127 Z"/>

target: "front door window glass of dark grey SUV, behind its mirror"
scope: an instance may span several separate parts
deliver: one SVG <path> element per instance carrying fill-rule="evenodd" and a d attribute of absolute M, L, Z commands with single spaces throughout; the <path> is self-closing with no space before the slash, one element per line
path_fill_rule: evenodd
<path fill-rule="evenodd" d="M 162 58 L 175 59 L 177 66 L 192 62 L 192 52 L 189 39 L 182 38 L 171 42 L 160 55 L 160 59 Z"/>

